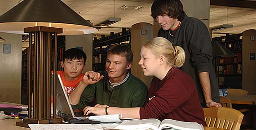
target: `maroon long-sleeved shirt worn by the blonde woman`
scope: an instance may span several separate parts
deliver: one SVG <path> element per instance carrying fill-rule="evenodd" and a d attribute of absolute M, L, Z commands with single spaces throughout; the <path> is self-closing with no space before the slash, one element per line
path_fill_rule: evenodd
<path fill-rule="evenodd" d="M 148 98 L 145 107 L 140 108 L 141 119 L 174 119 L 206 126 L 195 83 L 177 68 L 170 69 L 163 80 L 152 79 Z"/>

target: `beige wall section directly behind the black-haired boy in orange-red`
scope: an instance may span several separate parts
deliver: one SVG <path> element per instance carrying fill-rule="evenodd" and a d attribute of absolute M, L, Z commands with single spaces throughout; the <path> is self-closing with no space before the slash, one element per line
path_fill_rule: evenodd
<path fill-rule="evenodd" d="M 84 72 L 93 69 L 93 34 L 66 36 L 66 50 L 69 48 L 83 47 L 87 56 Z"/>

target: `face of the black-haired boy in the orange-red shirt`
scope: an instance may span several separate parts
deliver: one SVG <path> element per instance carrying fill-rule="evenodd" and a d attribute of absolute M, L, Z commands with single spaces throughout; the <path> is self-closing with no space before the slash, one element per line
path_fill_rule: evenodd
<path fill-rule="evenodd" d="M 85 68 L 84 59 L 65 59 L 62 61 L 66 80 L 73 81 L 79 77 Z"/>

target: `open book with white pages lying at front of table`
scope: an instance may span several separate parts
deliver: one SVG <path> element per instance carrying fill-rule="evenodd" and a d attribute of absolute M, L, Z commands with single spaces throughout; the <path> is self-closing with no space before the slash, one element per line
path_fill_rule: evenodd
<path fill-rule="evenodd" d="M 172 119 L 164 119 L 162 122 L 158 119 L 142 119 L 134 121 L 124 121 L 115 129 L 119 130 L 204 130 L 202 125 L 196 122 L 183 122 Z"/>

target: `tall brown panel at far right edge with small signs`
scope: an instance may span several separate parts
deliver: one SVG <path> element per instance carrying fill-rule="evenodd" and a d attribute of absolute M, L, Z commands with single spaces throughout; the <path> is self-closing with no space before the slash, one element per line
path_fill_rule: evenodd
<path fill-rule="evenodd" d="M 251 40 L 254 36 L 254 40 Z M 242 89 L 248 94 L 256 94 L 256 61 L 250 60 L 250 53 L 256 53 L 256 30 L 246 30 L 243 32 L 242 45 Z"/>

